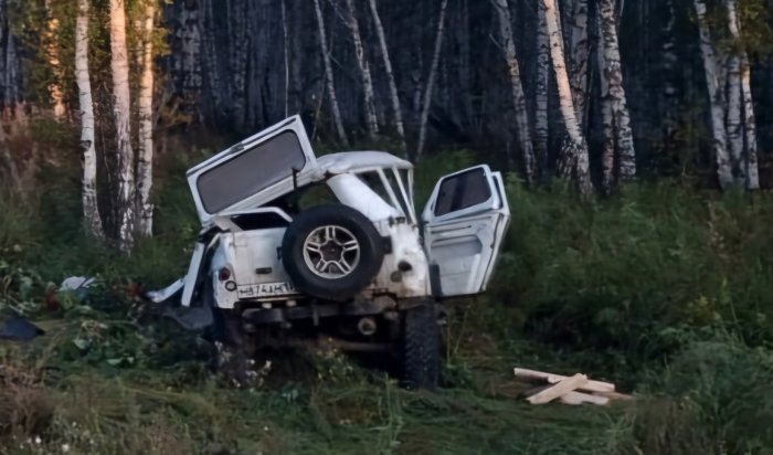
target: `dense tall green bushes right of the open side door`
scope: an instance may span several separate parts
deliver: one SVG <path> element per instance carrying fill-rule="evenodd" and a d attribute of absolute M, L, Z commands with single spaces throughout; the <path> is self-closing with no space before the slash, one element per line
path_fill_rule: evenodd
<path fill-rule="evenodd" d="M 720 324 L 750 343 L 773 340 L 769 194 L 660 183 L 583 202 L 515 181 L 508 194 L 513 222 L 497 294 L 523 308 L 540 339 L 639 361 L 678 349 L 675 328 Z"/>

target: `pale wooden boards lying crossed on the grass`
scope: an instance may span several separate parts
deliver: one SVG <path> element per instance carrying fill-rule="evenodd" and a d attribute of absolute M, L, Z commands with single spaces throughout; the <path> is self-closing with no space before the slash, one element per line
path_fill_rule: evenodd
<path fill-rule="evenodd" d="M 615 384 L 611 382 L 592 381 L 585 374 L 565 377 L 543 371 L 513 369 L 516 378 L 530 382 L 547 382 L 549 385 L 530 394 L 526 400 L 531 404 L 544 404 L 553 400 L 560 400 L 564 404 L 592 403 L 606 405 L 612 400 L 633 400 L 633 396 L 615 391 Z"/>

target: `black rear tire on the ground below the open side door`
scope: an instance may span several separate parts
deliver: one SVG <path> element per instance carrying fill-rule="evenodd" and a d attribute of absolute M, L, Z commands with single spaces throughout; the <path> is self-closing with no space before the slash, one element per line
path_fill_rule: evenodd
<path fill-rule="evenodd" d="M 435 390 L 441 381 L 441 329 L 433 304 L 403 311 L 402 362 L 406 389 Z"/>

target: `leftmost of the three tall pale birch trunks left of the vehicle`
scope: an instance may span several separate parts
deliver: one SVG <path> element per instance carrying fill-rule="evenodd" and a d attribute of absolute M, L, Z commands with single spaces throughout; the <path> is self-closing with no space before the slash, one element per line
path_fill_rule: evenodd
<path fill-rule="evenodd" d="M 75 22 L 75 82 L 81 106 L 81 148 L 83 150 L 83 178 L 81 201 L 86 230 L 98 240 L 105 239 L 105 231 L 97 204 L 97 157 L 94 141 L 94 103 L 92 82 L 88 72 L 88 11 L 89 0 L 77 0 Z"/>

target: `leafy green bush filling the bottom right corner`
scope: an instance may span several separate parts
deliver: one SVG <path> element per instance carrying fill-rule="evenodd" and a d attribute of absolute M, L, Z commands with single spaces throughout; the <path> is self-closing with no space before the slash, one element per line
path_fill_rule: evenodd
<path fill-rule="evenodd" d="M 644 453 L 769 453 L 773 357 L 718 335 L 691 342 L 634 410 Z"/>

